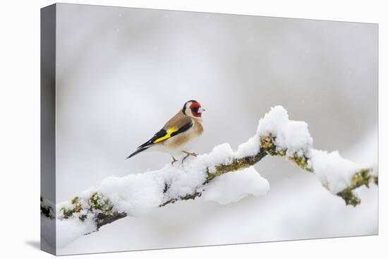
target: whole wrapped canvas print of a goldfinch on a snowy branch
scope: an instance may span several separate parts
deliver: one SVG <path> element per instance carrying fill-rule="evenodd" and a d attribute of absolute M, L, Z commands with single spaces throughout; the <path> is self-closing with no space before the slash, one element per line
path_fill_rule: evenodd
<path fill-rule="evenodd" d="M 375 235 L 377 25 L 54 4 L 41 248 Z"/>

